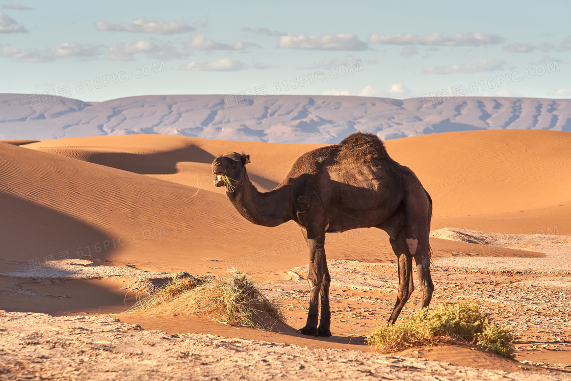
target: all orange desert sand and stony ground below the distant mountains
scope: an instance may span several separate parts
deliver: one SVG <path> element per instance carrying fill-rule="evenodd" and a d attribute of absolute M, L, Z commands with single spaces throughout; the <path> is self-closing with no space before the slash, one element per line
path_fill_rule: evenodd
<path fill-rule="evenodd" d="M 300 154 L 318 145 L 170 135 L 7 143 L 0 144 L 0 309 L 7 311 L 0 314 L 0 353 L 6 359 L 0 374 L 6 378 L 65 378 L 65 372 L 81 378 L 85 369 L 112 378 L 102 371 L 110 360 L 118 364 L 112 371 L 129 371 L 133 367 L 125 359 L 132 357 L 156 378 L 171 369 L 174 378 L 186 370 L 205 379 L 262 379 L 262 371 L 248 366 L 266 358 L 267 346 L 280 354 L 269 363 L 282 364 L 280 372 L 295 378 L 300 364 L 308 378 L 323 376 L 319 362 L 303 365 L 316 358 L 327 359 L 339 378 L 392 371 L 417 379 L 571 378 L 565 372 L 571 367 L 571 133 L 486 130 L 386 142 L 389 155 L 415 171 L 434 201 L 431 306 L 478 300 L 520 336 L 519 362 L 467 346 L 416 348 L 400 354 L 406 360 L 364 353 L 363 335 L 385 323 L 396 297 L 395 256 L 387 235 L 376 229 L 329 235 L 333 336 L 295 333 L 308 305 L 308 251 L 300 228 L 293 222 L 275 228 L 247 222 L 224 190 L 212 186 L 210 166 L 226 151 L 250 154 L 250 178 L 270 190 Z M 263 332 L 168 311 L 120 314 L 137 292 L 148 291 L 136 286 L 140 279 L 179 271 L 223 274 L 228 268 L 247 272 L 275 298 L 289 327 Z M 416 311 L 417 296 L 401 318 Z M 62 328 L 54 331 L 51 324 Z M 66 330 L 78 335 L 54 338 Z M 114 330 L 122 332 L 118 342 L 108 334 Z M 186 353 L 179 356 L 184 361 L 151 366 L 170 348 L 164 340 Z M 156 343 L 156 356 L 135 342 L 153 348 Z M 90 358 L 83 369 L 77 362 L 58 362 L 50 343 L 67 348 L 61 356 L 68 358 L 81 358 L 82 345 L 105 355 Z M 230 353 L 240 353 L 235 363 L 220 360 Z M 228 368 L 216 373 L 208 365 L 216 359 Z M 351 367 L 342 359 L 350 359 Z M 349 368 L 356 373 L 343 374 Z"/>

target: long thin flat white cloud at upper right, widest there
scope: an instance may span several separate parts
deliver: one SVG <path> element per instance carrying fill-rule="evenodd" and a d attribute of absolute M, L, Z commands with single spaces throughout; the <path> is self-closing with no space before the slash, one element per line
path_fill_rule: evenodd
<path fill-rule="evenodd" d="M 432 33 L 424 36 L 415 34 L 373 34 L 369 35 L 369 42 L 384 45 L 429 45 L 429 46 L 488 46 L 501 43 L 503 38 L 497 34 L 488 33 L 457 33 L 443 36 Z"/>

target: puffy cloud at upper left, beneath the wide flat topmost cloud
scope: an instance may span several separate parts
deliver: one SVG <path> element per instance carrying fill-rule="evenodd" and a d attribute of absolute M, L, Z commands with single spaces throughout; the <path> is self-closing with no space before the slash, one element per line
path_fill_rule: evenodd
<path fill-rule="evenodd" d="M 158 45 L 148 40 L 119 42 L 108 47 L 104 59 L 111 61 L 133 61 L 134 54 L 142 53 L 150 59 L 176 59 L 188 57 L 188 53 L 168 44 Z"/>

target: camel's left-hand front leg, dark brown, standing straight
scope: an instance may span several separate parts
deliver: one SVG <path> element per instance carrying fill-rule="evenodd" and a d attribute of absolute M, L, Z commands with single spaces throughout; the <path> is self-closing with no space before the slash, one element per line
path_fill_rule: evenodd
<path fill-rule="evenodd" d="M 309 246 L 309 272 L 307 275 L 307 280 L 309 282 L 309 311 L 305 327 L 301 328 L 297 332 L 304 335 L 319 336 L 319 331 L 317 330 L 317 317 L 319 313 L 319 294 L 321 292 L 321 286 L 323 284 L 325 274 L 323 266 L 325 263 L 325 229 L 317 226 L 307 227 L 307 243 Z M 329 300 L 327 299 L 327 304 L 329 304 L 328 302 Z M 323 321 L 323 311 L 321 319 L 322 324 L 325 323 Z M 329 311 L 327 311 L 325 319 L 331 319 Z M 325 325 L 328 330 L 328 322 Z"/>

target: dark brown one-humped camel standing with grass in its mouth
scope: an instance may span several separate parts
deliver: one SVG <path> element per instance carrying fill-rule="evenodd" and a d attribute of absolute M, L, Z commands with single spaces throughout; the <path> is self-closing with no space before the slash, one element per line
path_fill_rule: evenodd
<path fill-rule="evenodd" d="M 309 311 L 307 324 L 297 332 L 331 336 L 331 276 L 325 259 L 325 233 L 364 227 L 386 231 L 399 271 L 399 292 L 389 324 L 399 317 L 415 289 L 412 258 L 422 307 L 428 307 L 434 290 L 428 243 L 432 199 L 412 170 L 389 157 L 376 135 L 353 133 L 338 145 L 301 155 L 286 178 L 268 192 L 260 192 L 252 184 L 247 163 L 250 155 L 236 152 L 216 158 L 213 183 L 216 187 L 226 185 L 226 195 L 248 221 L 274 227 L 294 220 L 304 230 L 309 248 Z"/>

